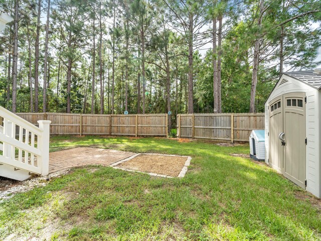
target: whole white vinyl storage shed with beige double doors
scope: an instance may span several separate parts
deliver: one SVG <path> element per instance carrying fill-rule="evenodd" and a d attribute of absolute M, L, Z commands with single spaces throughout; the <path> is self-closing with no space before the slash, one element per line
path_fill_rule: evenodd
<path fill-rule="evenodd" d="M 321 197 L 321 71 L 285 72 L 265 102 L 265 162 Z"/>

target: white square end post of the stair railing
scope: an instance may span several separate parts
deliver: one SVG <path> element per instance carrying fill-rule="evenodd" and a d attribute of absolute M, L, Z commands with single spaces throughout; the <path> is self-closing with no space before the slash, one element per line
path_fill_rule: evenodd
<path fill-rule="evenodd" d="M 38 148 L 41 151 L 41 157 L 38 157 L 38 165 L 41 168 L 41 175 L 49 174 L 49 140 L 50 140 L 51 121 L 38 121 L 39 129 L 43 131 L 42 136 L 37 141 Z M 39 160 L 40 159 L 40 160 Z"/>

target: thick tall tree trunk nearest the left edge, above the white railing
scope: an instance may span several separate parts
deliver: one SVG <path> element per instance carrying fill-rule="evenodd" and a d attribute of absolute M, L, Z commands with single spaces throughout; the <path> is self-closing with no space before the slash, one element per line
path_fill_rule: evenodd
<path fill-rule="evenodd" d="M 17 73 L 18 73 L 18 21 L 19 21 L 19 0 L 15 1 L 15 22 L 14 22 L 14 57 L 12 72 L 12 112 L 17 111 Z"/>

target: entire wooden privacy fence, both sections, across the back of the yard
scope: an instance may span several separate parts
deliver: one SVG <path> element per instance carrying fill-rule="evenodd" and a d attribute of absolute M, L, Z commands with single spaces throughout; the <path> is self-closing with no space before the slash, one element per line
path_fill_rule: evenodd
<path fill-rule="evenodd" d="M 39 120 L 51 121 L 52 135 L 168 136 L 167 114 L 17 114 L 36 126 Z M 260 129 L 264 129 L 264 113 L 177 115 L 179 138 L 248 142 L 251 131 Z"/>

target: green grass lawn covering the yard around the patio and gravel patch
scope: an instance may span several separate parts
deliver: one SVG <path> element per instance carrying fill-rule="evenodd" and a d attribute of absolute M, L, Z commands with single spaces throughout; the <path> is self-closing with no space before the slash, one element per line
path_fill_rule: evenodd
<path fill-rule="evenodd" d="M 248 145 L 96 136 L 50 144 L 51 151 L 79 146 L 193 159 L 182 179 L 74 169 L 1 203 L 0 240 L 321 240 L 320 200 L 266 165 L 230 155 L 248 154 Z"/>

